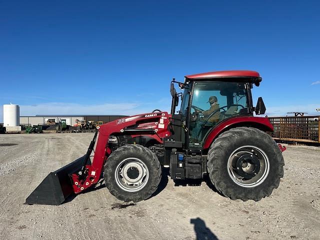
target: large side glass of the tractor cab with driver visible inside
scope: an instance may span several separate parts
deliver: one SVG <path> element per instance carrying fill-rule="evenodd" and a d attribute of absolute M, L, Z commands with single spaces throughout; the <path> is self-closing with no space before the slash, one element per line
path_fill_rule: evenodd
<path fill-rule="evenodd" d="M 248 112 L 244 83 L 194 83 L 189 117 L 189 146 L 201 146 L 206 133 L 220 121 Z"/>

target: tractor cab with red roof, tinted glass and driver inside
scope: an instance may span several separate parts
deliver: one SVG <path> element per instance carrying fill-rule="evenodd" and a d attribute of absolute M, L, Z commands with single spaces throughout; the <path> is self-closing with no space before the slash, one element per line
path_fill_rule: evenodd
<path fill-rule="evenodd" d="M 255 71 L 207 72 L 185 76 L 184 82 L 173 80 L 171 114 L 173 119 L 181 121 L 184 129 L 180 139 L 175 140 L 181 140 L 186 148 L 202 148 L 207 135 L 222 121 L 252 116 L 253 111 L 264 114 L 262 98 L 259 97 L 256 107 L 252 105 L 251 88 L 253 84 L 258 86 L 260 81 L 261 77 Z M 178 83 L 183 93 L 172 89 L 173 82 Z M 176 114 L 179 96 L 181 106 Z"/>

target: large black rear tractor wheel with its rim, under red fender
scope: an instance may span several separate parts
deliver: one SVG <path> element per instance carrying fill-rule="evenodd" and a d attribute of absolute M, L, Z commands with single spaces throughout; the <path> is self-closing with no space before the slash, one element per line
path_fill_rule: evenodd
<path fill-rule="evenodd" d="M 224 196 L 260 200 L 277 188 L 283 176 L 282 153 L 267 133 L 253 127 L 223 132 L 208 151 L 212 184 Z"/>

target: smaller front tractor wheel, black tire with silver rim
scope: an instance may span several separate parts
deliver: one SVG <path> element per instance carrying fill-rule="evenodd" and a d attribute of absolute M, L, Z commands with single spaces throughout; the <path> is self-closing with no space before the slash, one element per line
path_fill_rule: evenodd
<path fill-rule="evenodd" d="M 161 179 L 157 157 L 146 147 L 128 144 L 114 150 L 104 164 L 104 181 L 119 200 L 141 201 L 149 198 Z"/>

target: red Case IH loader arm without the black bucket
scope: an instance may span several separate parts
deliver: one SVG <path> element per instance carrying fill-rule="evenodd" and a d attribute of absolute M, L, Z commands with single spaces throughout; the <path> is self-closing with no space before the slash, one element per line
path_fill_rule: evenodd
<path fill-rule="evenodd" d="M 169 114 L 167 112 L 156 112 L 121 118 L 97 127 L 98 136 L 92 163 L 90 164 L 89 161 L 85 160 L 81 169 L 70 174 L 74 193 L 79 193 L 100 180 L 104 162 L 112 152 L 108 145 L 108 139 L 111 135 L 147 135 L 154 138 L 158 143 L 162 143 L 163 137 L 171 135 L 168 124 Z M 93 137 L 88 148 L 86 159 L 89 159 L 94 140 L 95 137 Z"/>

